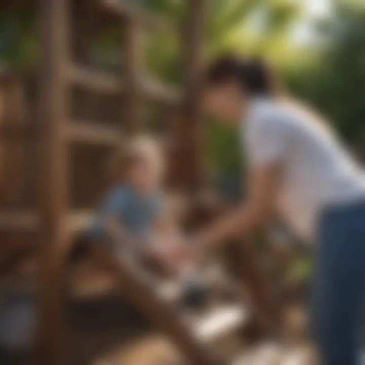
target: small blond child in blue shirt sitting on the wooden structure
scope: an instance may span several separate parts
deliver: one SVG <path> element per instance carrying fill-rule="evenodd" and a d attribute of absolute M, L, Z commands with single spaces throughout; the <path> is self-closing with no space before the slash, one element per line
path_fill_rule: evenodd
<path fill-rule="evenodd" d="M 192 282 L 195 263 L 165 209 L 163 158 L 148 138 L 133 140 L 114 159 L 116 184 L 106 194 L 90 233 L 117 255 Z"/>

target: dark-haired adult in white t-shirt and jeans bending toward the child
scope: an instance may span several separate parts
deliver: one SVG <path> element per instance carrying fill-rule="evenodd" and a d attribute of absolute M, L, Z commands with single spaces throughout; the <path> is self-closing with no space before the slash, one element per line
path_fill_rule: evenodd
<path fill-rule="evenodd" d="M 316 243 L 311 320 L 325 365 L 354 365 L 365 293 L 365 178 L 335 134 L 278 93 L 265 63 L 227 55 L 206 71 L 205 106 L 241 127 L 249 162 L 241 207 L 198 235 L 211 247 L 278 212 Z"/>

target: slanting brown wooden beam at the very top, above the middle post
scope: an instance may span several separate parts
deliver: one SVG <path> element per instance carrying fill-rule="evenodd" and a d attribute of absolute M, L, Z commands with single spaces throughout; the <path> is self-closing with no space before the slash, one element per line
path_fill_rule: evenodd
<path fill-rule="evenodd" d="M 127 4 L 121 0 L 99 0 L 100 4 L 108 11 L 111 11 L 116 14 L 120 14 L 126 17 L 133 17 L 137 19 L 141 23 L 156 29 L 161 30 L 174 30 L 174 27 L 170 22 L 157 14 L 153 14 L 151 12 L 143 11 L 136 6 Z"/>

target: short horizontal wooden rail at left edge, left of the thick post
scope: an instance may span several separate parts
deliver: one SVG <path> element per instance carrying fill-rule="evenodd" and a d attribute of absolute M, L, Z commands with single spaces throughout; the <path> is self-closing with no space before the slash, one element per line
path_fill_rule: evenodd
<path fill-rule="evenodd" d="M 6 231 L 34 231 L 40 226 L 40 217 L 32 211 L 0 212 L 0 229 Z"/>

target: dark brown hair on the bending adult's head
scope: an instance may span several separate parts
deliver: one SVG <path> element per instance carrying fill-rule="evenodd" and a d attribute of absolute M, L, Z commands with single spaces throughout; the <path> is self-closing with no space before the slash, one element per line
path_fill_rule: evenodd
<path fill-rule="evenodd" d="M 207 85 L 219 86 L 231 81 L 238 82 L 242 91 L 251 96 L 274 96 L 277 93 L 268 65 L 258 57 L 227 54 L 208 66 L 205 75 Z"/>

